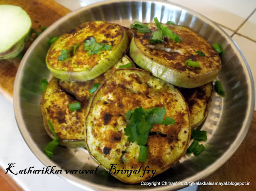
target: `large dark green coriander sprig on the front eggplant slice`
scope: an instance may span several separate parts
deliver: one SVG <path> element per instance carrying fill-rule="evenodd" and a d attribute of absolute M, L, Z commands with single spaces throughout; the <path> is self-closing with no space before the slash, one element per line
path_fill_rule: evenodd
<path fill-rule="evenodd" d="M 154 124 L 175 124 L 174 119 L 170 117 L 164 119 L 165 114 L 166 110 L 164 107 L 144 110 L 142 106 L 126 113 L 126 118 L 130 124 L 124 128 L 124 132 L 128 136 L 129 141 L 137 142 L 140 145 L 139 161 L 145 162 L 147 159 L 148 147 L 145 145 L 148 141 L 148 134 Z"/>

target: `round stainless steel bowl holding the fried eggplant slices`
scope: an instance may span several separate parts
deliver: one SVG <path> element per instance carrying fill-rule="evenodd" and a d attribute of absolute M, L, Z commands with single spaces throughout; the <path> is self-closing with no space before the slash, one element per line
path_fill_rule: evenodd
<path fill-rule="evenodd" d="M 204 16 L 178 6 L 160 1 L 106 1 L 92 4 L 71 12 L 52 24 L 28 49 L 22 59 L 14 84 L 14 111 L 20 132 L 34 155 L 46 166 L 54 169 L 95 169 L 97 166 L 84 148 L 58 147 L 52 159 L 44 154 L 50 138 L 44 130 L 40 110 L 41 79 L 50 79 L 45 63 L 47 41 L 84 22 L 105 20 L 130 26 L 136 20 L 153 22 L 174 21 L 192 28 L 210 43 L 219 43 L 223 49 L 222 69 L 218 79 L 222 81 L 226 96 L 215 95 L 210 112 L 202 129 L 208 132 L 204 143 L 206 150 L 200 156 L 184 156 L 173 168 L 150 181 L 198 181 L 218 169 L 241 144 L 250 126 L 254 110 L 255 93 L 252 74 L 244 55 L 236 43 L 214 22 Z M 241 156 L 243 157 L 243 156 Z M 114 177 L 95 174 L 60 174 L 70 183 L 88 190 L 174 190 L 184 185 L 146 187 L 129 185 Z"/>

